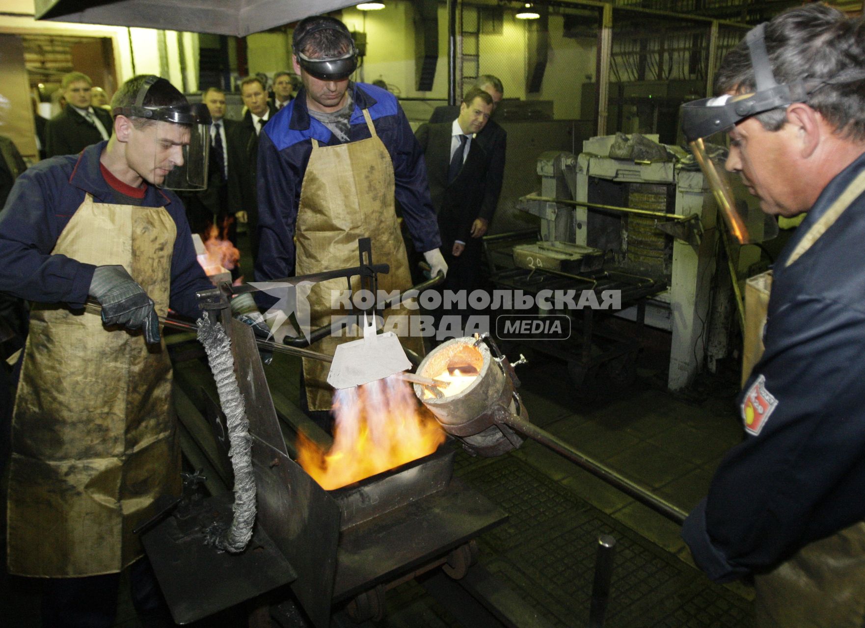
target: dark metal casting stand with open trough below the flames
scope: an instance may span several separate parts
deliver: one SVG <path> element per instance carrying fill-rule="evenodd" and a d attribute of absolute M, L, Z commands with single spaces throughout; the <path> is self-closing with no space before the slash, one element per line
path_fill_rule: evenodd
<path fill-rule="evenodd" d="M 385 265 L 369 261 L 291 281 L 387 272 Z M 209 547 L 213 530 L 227 528 L 232 519 L 230 494 L 202 498 L 194 490 L 201 478 L 188 477 L 189 490 L 180 505 L 144 532 L 144 547 L 176 622 L 187 624 L 288 585 L 292 589 L 289 606 L 297 605 L 292 612 L 298 614 L 299 607 L 298 617 L 306 618 L 296 625 L 319 628 L 331 625 L 332 613 L 340 608 L 358 621 L 381 617 L 388 587 L 437 567 L 452 578 L 465 576 L 477 560 L 473 539 L 504 522 L 503 511 L 452 477 L 451 442 L 426 457 L 344 488 L 319 486 L 290 452 L 292 443 L 286 441 L 278 420 L 252 328 L 230 315 L 231 293 L 250 289 L 223 283 L 200 298 L 207 316 L 230 338 L 226 350 L 234 374 L 229 379 L 236 381 L 248 420 L 248 434 L 240 438 L 251 445 L 256 521 L 242 551 L 224 553 Z M 199 328 L 204 324 L 202 319 Z M 314 357 L 309 349 L 285 350 Z M 207 419 L 220 458 L 215 463 L 230 468 L 229 446 L 234 456 L 235 442 L 232 437 L 229 443 L 233 428 L 222 394 L 221 401 L 221 408 L 212 404 Z M 237 465 L 234 475 L 238 475 Z M 477 575 L 474 581 L 477 585 Z M 512 597 L 503 586 L 484 584 L 483 577 L 481 586 L 505 599 Z M 282 599 L 286 595 L 282 593 Z M 546 624 L 539 619 L 531 625 Z"/>

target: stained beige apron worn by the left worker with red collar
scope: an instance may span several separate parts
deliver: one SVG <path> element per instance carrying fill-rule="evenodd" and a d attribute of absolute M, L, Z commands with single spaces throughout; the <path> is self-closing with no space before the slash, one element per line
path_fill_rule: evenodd
<path fill-rule="evenodd" d="M 175 237 L 165 208 L 94 203 L 88 194 L 52 253 L 124 266 L 165 316 Z M 157 497 L 180 491 L 167 352 L 58 304 L 33 304 L 24 351 L 12 418 L 10 573 L 119 572 L 143 554 L 132 529 L 155 514 Z"/>

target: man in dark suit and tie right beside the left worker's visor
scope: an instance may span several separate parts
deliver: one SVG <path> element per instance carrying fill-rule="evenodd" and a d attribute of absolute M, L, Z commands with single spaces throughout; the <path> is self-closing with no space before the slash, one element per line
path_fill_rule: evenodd
<path fill-rule="evenodd" d="M 238 122 L 225 118 L 225 92 L 219 87 L 208 87 L 202 93 L 202 102 L 210 112 L 210 160 L 208 187 L 201 192 L 182 194 L 186 217 L 193 234 L 206 239 L 211 225 L 223 229 L 228 212 L 228 145 L 232 130 Z M 234 224 L 231 225 L 234 227 Z M 228 239 L 237 246 L 236 227 L 227 229 Z"/>

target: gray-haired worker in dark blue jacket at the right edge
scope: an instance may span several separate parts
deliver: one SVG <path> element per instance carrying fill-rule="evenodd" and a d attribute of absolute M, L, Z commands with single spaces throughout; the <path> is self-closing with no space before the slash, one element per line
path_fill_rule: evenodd
<path fill-rule="evenodd" d="M 753 574 L 760 626 L 865 625 L 863 60 L 862 19 L 809 4 L 750 31 L 716 74 L 721 97 L 683 107 L 704 170 L 702 138 L 727 131 L 721 169 L 766 214 L 807 212 L 773 267 L 746 440 L 682 530 L 712 579 Z"/>

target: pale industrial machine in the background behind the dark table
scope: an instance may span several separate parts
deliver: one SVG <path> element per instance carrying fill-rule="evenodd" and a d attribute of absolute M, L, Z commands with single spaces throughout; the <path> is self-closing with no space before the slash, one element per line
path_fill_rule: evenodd
<path fill-rule="evenodd" d="M 657 136 L 608 136 L 586 140 L 579 157 L 542 154 L 541 193 L 522 197 L 519 205 L 541 219 L 541 239 L 513 247 L 510 268 L 495 251 L 490 261 L 499 285 L 534 280 L 547 287 L 621 290 L 618 317 L 670 331 L 667 382 L 677 390 L 692 381 L 704 360 L 716 209 L 702 173 L 682 161 L 682 151 L 656 142 Z M 636 155 L 623 151 L 634 144 Z M 565 357 L 572 375 L 621 355 L 615 349 L 593 353 L 592 312 L 584 310 L 582 317 L 580 348 L 568 353 L 538 345 Z"/>

